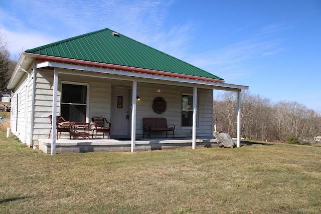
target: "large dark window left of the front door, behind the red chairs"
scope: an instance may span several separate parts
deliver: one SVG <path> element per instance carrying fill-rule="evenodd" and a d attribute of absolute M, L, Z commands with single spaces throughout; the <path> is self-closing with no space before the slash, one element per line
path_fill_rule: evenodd
<path fill-rule="evenodd" d="M 86 122 L 87 85 L 62 84 L 61 116 L 73 122 Z"/>

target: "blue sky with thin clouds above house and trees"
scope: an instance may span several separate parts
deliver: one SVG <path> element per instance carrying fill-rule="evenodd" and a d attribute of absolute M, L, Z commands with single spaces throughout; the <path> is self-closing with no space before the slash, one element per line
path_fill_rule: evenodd
<path fill-rule="evenodd" d="M 321 112 L 320 0 L 0 2 L 12 56 L 109 28 L 251 94 Z"/>

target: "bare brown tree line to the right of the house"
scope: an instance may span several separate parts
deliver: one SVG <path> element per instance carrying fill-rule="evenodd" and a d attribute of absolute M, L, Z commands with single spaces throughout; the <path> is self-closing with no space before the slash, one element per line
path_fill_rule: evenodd
<path fill-rule="evenodd" d="M 237 136 L 237 93 L 225 92 L 213 101 L 217 131 Z M 321 136 L 321 115 L 297 102 L 272 103 L 241 92 L 241 135 L 248 140 L 285 141 L 289 136 L 313 141 Z"/>

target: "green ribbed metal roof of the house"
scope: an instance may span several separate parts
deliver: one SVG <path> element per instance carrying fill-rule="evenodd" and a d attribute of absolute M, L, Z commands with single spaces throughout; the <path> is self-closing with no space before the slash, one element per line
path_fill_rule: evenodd
<path fill-rule="evenodd" d="M 106 28 L 26 52 L 223 80 L 126 36 L 118 33 L 115 36 L 113 33 L 116 32 Z"/>

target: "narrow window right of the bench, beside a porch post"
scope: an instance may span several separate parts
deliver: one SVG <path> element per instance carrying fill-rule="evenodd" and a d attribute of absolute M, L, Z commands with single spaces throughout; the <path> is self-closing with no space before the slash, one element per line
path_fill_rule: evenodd
<path fill-rule="evenodd" d="M 182 94 L 182 127 L 193 126 L 193 95 Z"/>

